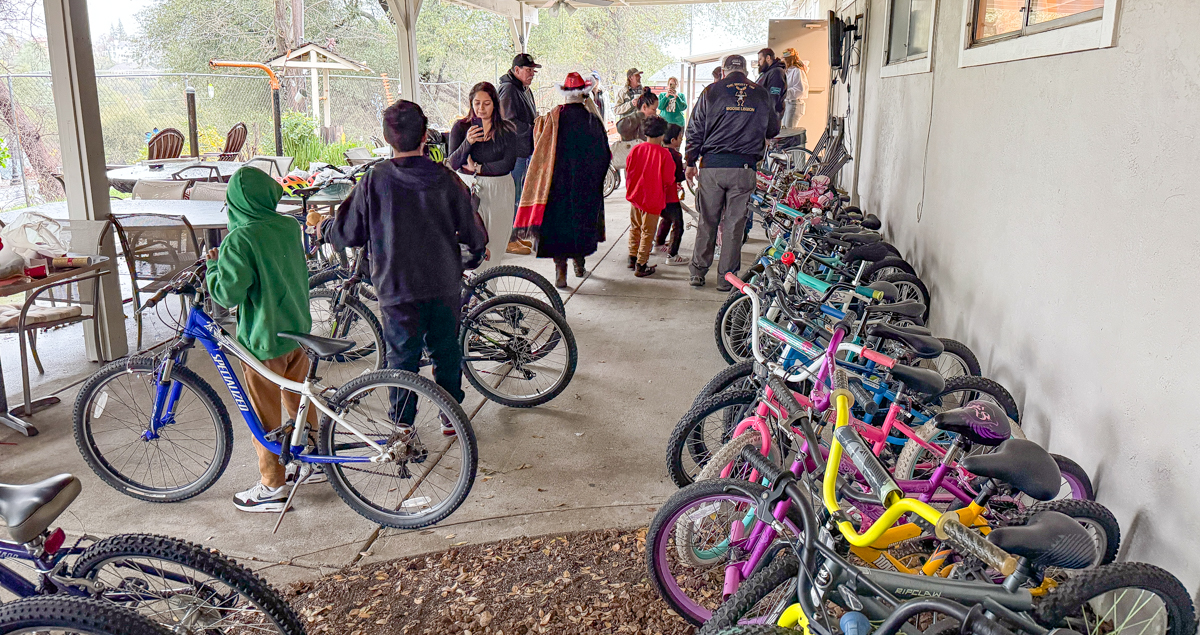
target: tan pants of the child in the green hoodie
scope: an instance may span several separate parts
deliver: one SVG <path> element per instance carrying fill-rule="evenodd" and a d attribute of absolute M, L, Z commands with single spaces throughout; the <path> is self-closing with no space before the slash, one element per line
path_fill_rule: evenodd
<path fill-rule="evenodd" d="M 308 357 L 300 348 L 275 359 L 263 360 L 263 365 L 269 371 L 293 382 L 304 382 L 305 375 L 308 373 Z M 241 370 L 246 378 L 246 394 L 250 396 L 250 405 L 254 407 L 258 420 L 263 423 L 263 430 L 270 432 L 282 426 L 284 409 L 288 412 L 288 418 L 295 418 L 296 411 L 300 408 L 300 395 L 281 389 L 254 372 L 254 369 L 245 363 L 241 365 Z M 308 430 L 316 432 L 316 408 L 310 408 Z M 258 453 L 258 473 L 263 477 L 263 485 L 268 487 L 282 486 L 284 468 L 280 465 L 278 455 L 264 448 L 257 438 L 254 439 L 254 451 Z"/>

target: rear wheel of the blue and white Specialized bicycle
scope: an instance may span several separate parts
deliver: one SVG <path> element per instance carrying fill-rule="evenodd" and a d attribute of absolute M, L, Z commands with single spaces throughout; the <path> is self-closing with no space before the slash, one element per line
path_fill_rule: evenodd
<path fill-rule="evenodd" d="M 418 375 L 384 370 L 352 379 L 330 400 L 317 449 L 337 496 L 372 522 L 418 529 L 458 509 L 475 483 L 479 450 L 454 397 Z M 367 443 L 370 441 L 371 443 Z M 383 448 L 385 459 L 379 456 Z"/>

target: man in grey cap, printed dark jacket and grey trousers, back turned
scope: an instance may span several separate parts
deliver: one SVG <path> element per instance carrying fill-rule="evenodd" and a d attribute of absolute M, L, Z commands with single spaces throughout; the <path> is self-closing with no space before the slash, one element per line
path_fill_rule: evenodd
<path fill-rule="evenodd" d="M 767 89 L 746 78 L 745 58 L 730 55 L 722 67 L 725 77 L 709 84 L 696 100 L 688 122 L 686 149 L 688 181 L 696 179 L 697 172 L 700 176 L 700 228 L 691 252 L 690 283 L 704 286 L 720 227 L 724 244 L 716 290 L 728 290 L 725 274 L 742 268 L 755 166 L 762 160 L 767 139 L 779 134 L 779 113 Z"/>

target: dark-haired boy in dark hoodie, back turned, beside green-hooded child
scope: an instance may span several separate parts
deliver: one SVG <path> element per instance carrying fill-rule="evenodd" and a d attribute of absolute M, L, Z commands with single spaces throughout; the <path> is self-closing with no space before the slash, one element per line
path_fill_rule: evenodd
<path fill-rule="evenodd" d="M 388 107 L 383 131 L 392 158 L 362 176 L 337 215 L 322 223 L 320 235 L 340 250 L 367 247 L 388 367 L 416 372 L 427 346 L 434 379 L 461 402 L 460 245 L 467 246 L 467 268 L 474 269 L 484 260 L 487 236 L 475 223 L 467 186 L 450 168 L 425 157 L 427 128 L 420 106 L 401 100 Z M 415 400 L 404 399 L 406 390 L 390 393 L 389 417 L 412 424 Z"/>

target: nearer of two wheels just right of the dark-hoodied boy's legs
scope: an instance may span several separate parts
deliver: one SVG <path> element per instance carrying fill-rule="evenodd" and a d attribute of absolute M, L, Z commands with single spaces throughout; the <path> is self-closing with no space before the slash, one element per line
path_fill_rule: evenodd
<path fill-rule="evenodd" d="M 575 334 L 546 302 L 500 295 L 476 306 L 458 330 L 462 365 L 470 385 L 511 408 L 557 397 L 580 361 Z"/>

